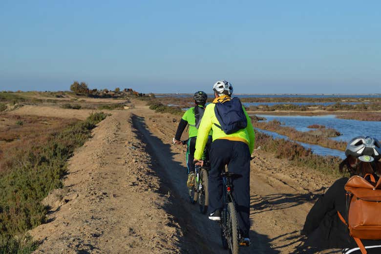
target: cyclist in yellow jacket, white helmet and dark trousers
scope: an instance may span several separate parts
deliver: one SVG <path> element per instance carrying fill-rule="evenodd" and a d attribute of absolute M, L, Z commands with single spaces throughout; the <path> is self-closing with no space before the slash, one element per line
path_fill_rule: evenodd
<path fill-rule="evenodd" d="M 226 134 L 225 131 L 221 129 L 223 124 L 217 119 L 221 119 L 221 116 L 216 116 L 215 107 L 216 103 L 224 103 L 232 100 L 233 86 L 229 82 L 221 80 L 213 85 L 213 91 L 215 99 L 213 103 L 207 105 L 198 128 L 194 161 L 198 164 L 203 164 L 201 160 L 202 152 L 208 140 L 208 133 L 212 129 L 212 145 L 210 148 L 211 170 L 209 172 L 209 208 L 211 214 L 209 215 L 209 219 L 221 219 L 221 210 L 223 208 L 223 180 L 220 174 L 224 170 L 225 165 L 228 165 L 229 172 L 242 176 L 233 179 L 233 195 L 237 205 L 238 221 L 243 237 L 241 240 L 249 245 L 250 157 L 254 149 L 254 129 L 250 117 L 239 102 L 243 110 L 242 115 L 246 117 L 247 125 L 231 134 Z M 232 112 L 231 115 L 233 114 L 234 112 Z M 229 116 L 225 115 L 225 118 L 227 117 Z"/>

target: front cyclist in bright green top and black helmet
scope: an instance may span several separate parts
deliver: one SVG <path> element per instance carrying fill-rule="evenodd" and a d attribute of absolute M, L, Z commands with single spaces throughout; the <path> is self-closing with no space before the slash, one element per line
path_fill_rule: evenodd
<path fill-rule="evenodd" d="M 183 117 L 181 118 L 179 125 L 177 127 L 176 135 L 173 138 L 173 142 L 176 144 L 181 144 L 181 135 L 183 134 L 187 125 L 189 125 L 188 131 L 188 142 L 187 142 L 187 167 L 188 167 L 188 180 L 187 186 L 190 188 L 194 183 L 194 164 L 193 164 L 193 154 L 195 151 L 196 137 L 198 132 L 198 127 L 201 122 L 201 118 L 204 114 L 205 104 L 208 99 L 208 95 L 202 91 L 198 91 L 193 95 L 194 107 L 188 109 Z"/>

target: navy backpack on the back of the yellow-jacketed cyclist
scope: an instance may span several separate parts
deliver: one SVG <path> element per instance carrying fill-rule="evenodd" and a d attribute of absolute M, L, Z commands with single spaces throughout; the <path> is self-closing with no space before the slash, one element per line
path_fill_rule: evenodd
<path fill-rule="evenodd" d="M 238 97 L 215 103 L 214 113 L 221 126 L 214 125 L 226 134 L 235 133 L 247 126 L 247 119 Z"/>

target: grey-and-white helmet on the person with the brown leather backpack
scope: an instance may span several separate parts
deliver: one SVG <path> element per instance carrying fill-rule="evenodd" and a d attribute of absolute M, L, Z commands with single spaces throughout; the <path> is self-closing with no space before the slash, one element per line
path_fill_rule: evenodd
<path fill-rule="evenodd" d="M 354 156 L 363 162 L 373 162 L 381 158 L 381 144 L 374 137 L 355 137 L 349 141 L 345 156 Z"/>

